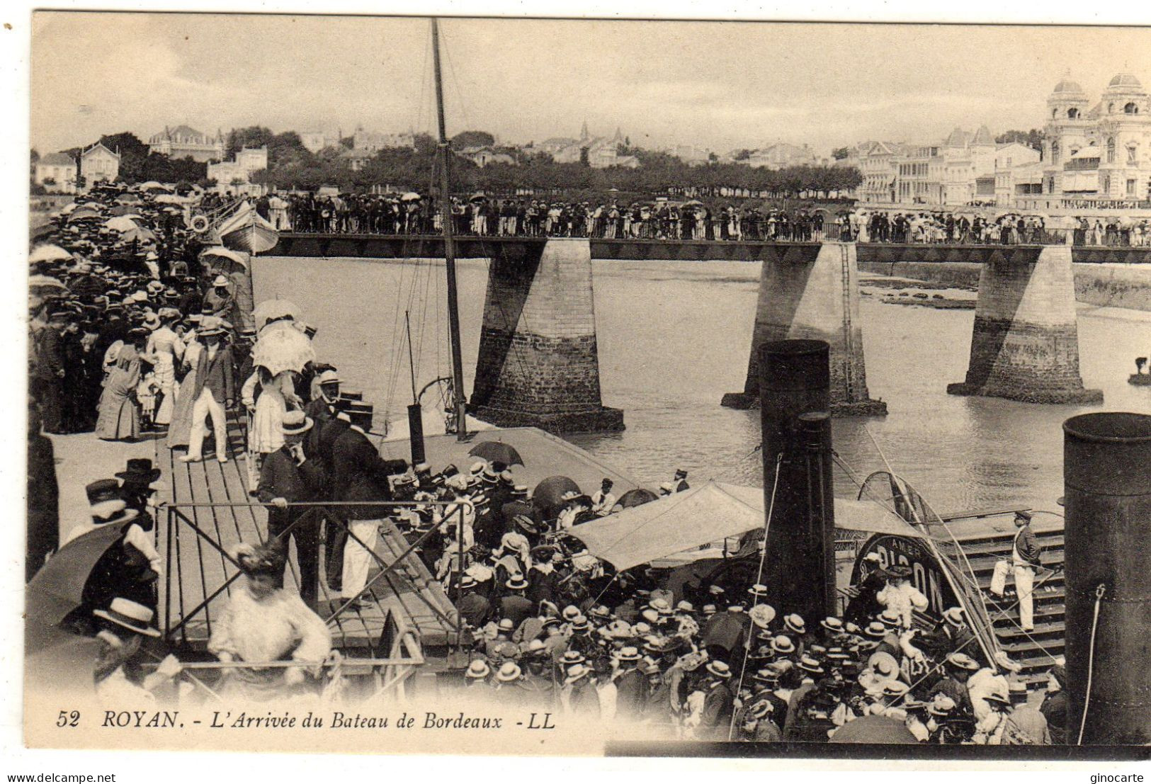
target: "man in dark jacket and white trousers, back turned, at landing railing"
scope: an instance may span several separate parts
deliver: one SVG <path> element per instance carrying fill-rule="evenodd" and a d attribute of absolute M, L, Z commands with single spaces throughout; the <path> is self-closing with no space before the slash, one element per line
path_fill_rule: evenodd
<path fill-rule="evenodd" d="M 330 471 L 336 501 L 361 502 L 341 507 L 338 511 L 348 524 L 348 538 L 343 553 L 343 580 L 341 593 L 344 599 L 356 600 L 367 584 L 367 573 L 374 558 L 380 520 L 388 515 L 388 508 L 375 501 L 391 501 L 388 477 L 407 470 L 405 460 L 386 460 L 380 457 L 363 429 L 349 427 L 331 446 Z"/>

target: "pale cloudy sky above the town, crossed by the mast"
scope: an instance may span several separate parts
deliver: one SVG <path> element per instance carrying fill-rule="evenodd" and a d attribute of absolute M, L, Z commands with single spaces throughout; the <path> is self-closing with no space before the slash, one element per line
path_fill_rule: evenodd
<path fill-rule="evenodd" d="M 31 143 L 122 130 L 357 125 L 433 132 L 420 18 L 38 12 Z M 449 18 L 448 132 L 521 144 L 620 128 L 719 152 L 773 142 L 936 142 L 955 125 L 1042 127 L 1069 71 L 1092 99 L 1119 71 L 1151 87 L 1151 29 Z"/>

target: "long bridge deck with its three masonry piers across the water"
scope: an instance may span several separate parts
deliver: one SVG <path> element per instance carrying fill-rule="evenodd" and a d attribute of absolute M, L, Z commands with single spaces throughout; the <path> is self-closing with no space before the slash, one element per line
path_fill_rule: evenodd
<path fill-rule="evenodd" d="M 284 233 L 268 256 L 443 258 L 435 235 Z M 490 259 L 475 383 L 468 410 L 498 426 L 554 433 L 623 429 L 602 404 L 592 260 L 760 261 L 759 302 L 742 390 L 759 401 L 755 347 L 817 338 L 831 345 L 832 409 L 882 416 L 870 398 L 859 318 L 859 264 L 981 264 L 968 371 L 956 395 L 1030 403 L 1102 403 L 1080 375 L 1072 264 L 1148 264 L 1151 248 L 1068 244 L 918 244 L 474 236 L 458 258 Z"/>

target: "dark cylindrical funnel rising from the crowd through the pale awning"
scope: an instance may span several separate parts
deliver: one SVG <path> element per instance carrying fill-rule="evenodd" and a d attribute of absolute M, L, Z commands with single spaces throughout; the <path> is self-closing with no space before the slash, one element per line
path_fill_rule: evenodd
<path fill-rule="evenodd" d="M 763 583 L 770 604 L 805 618 L 834 612 L 831 425 L 823 413 L 830 395 L 829 351 L 826 342 L 808 340 L 772 341 L 759 349 L 763 494 L 771 515 Z"/>

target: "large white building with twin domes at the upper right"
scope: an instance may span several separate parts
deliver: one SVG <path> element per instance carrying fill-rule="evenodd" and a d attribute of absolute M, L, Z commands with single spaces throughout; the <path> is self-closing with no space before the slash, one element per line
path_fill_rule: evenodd
<path fill-rule="evenodd" d="M 1099 100 L 1064 78 L 1047 98 L 1043 197 L 1049 206 L 1151 198 L 1151 99 L 1116 74 Z"/>

